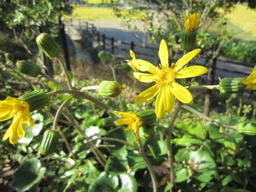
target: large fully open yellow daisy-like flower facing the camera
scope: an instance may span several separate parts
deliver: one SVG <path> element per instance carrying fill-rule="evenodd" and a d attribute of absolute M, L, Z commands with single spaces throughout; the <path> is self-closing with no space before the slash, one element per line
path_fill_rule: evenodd
<path fill-rule="evenodd" d="M 140 93 L 135 102 L 138 104 L 149 101 L 150 99 L 157 96 L 155 101 L 155 113 L 157 118 L 162 118 L 166 112 L 171 112 L 174 105 L 174 96 L 183 103 L 189 103 L 193 100 L 190 91 L 187 88 L 176 82 L 176 79 L 183 79 L 189 77 L 196 77 L 207 73 L 208 69 L 204 66 L 189 66 L 181 69 L 184 65 L 190 62 L 201 49 L 195 49 L 188 54 L 183 55 L 176 65 L 174 63 L 169 67 L 168 64 L 168 48 L 165 40 L 162 40 L 159 48 L 159 58 L 161 64 L 154 66 L 144 60 L 133 60 L 133 64 L 140 71 L 148 71 L 147 73 L 133 73 L 133 76 L 144 83 L 155 82 L 151 88 Z"/>

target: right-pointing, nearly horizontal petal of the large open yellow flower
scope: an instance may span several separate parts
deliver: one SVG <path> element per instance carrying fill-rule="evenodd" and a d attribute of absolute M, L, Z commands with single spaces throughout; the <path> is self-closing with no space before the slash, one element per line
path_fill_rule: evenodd
<path fill-rule="evenodd" d="M 181 69 L 176 73 L 177 79 L 182 78 L 190 78 L 190 77 L 196 77 L 201 76 L 202 74 L 205 74 L 208 72 L 208 69 L 204 66 L 188 66 L 187 68 Z"/>

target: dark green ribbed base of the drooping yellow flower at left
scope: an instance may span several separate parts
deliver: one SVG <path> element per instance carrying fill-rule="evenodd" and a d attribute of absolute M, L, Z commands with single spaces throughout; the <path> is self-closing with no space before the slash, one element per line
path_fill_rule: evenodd
<path fill-rule="evenodd" d="M 49 105 L 48 95 L 44 91 L 35 90 L 20 97 L 29 104 L 30 112 Z"/>

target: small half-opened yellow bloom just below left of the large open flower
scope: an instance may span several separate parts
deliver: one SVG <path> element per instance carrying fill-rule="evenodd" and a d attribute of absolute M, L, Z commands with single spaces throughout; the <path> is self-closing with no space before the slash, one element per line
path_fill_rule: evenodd
<path fill-rule="evenodd" d="M 139 116 L 137 116 L 135 113 L 133 112 L 118 112 L 115 111 L 116 115 L 119 115 L 121 117 L 123 117 L 123 119 L 119 119 L 116 122 L 116 126 L 123 126 L 123 125 L 129 125 L 126 129 L 124 130 L 136 130 L 135 135 L 136 135 L 136 141 L 138 141 L 139 137 L 140 137 L 140 126 L 143 123 L 140 119 Z"/>

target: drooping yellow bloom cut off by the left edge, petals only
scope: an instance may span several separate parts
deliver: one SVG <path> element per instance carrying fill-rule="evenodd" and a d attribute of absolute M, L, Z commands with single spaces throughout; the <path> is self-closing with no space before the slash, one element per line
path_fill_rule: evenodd
<path fill-rule="evenodd" d="M 9 138 L 10 143 L 16 144 L 19 138 L 24 137 L 26 124 L 34 126 L 34 119 L 30 116 L 29 104 L 23 99 L 8 96 L 4 101 L 0 101 L 0 121 L 13 118 L 13 122 L 2 140 Z"/>

